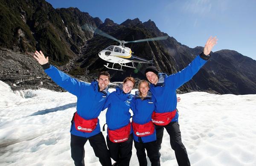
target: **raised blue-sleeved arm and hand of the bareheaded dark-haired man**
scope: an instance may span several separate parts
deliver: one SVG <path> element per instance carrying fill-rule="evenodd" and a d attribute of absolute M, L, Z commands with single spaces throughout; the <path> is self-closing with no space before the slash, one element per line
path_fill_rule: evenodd
<path fill-rule="evenodd" d="M 71 94 L 79 96 L 81 91 L 81 85 L 84 85 L 84 86 L 90 85 L 89 83 L 80 82 L 75 78 L 65 74 L 64 72 L 61 72 L 54 66 L 50 65 L 48 57 L 45 58 L 43 52 L 41 51 L 40 52 L 36 51 L 33 57 L 35 58 L 35 60 L 38 61 L 40 65 L 43 66 L 44 72 L 46 72 L 47 75 L 49 75 L 49 77 L 51 77 L 52 80 L 56 84 L 58 84 L 58 86 L 61 86 Z"/>

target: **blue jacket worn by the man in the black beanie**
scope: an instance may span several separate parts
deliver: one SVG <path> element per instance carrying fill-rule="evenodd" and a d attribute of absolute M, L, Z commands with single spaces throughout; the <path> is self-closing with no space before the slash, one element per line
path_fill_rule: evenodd
<path fill-rule="evenodd" d="M 150 91 L 157 100 L 155 112 L 164 113 L 172 112 L 177 107 L 176 89 L 182 86 L 201 69 L 207 60 L 202 59 L 199 55 L 183 70 L 175 74 L 167 76 L 166 74 L 158 74 L 157 85 L 150 84 Z M 178 121 L 179 114 L 176 113 L 172 122 Z"/>

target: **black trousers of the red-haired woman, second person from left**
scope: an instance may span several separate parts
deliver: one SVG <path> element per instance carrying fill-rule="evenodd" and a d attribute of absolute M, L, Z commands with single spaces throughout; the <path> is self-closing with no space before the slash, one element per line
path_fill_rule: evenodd
<path fill-rule="evenodd" d="M 133 135 L 131 134 L 125 142 L 113 143 L 107 136 L 107 145 L 110 156 L 116 161 L 118 166 L 129 166 L 131 160 L 131 149 Z"/>

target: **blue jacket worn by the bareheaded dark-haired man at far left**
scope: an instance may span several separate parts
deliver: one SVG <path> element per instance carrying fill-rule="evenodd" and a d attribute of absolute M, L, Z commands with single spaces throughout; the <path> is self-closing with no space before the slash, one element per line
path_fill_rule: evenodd
<path fill-rule="evenodd" d="M 99 92 L 98 81 L 94 80 L 92 83 L 80 82 L 64 72 L 59 71 L 52 65 L 48 69 L 45 69 L 44 72 L 46 72 L 56 84 L 77 97 L 76 111 L 79 116 L 87 120 L 99 116 L 110 94 L 108 88 Z M 71 125 L 70 132 L 72 135 L 80 137 L 96 135 L 100 132 L 99 119 L 96 128 L 91 133 L 76 130 L 75 124 Z"/>

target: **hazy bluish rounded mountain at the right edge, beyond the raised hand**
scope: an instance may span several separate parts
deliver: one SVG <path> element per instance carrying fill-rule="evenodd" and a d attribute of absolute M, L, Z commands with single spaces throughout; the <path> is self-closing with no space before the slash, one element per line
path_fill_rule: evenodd
<path fill-rule="evenodd" d="M 236 51 L 220 50 L 205 66 L 209 78 L 214 79 L 209 86 L 221 94 L 255 94 L 256 60 Z"/>

